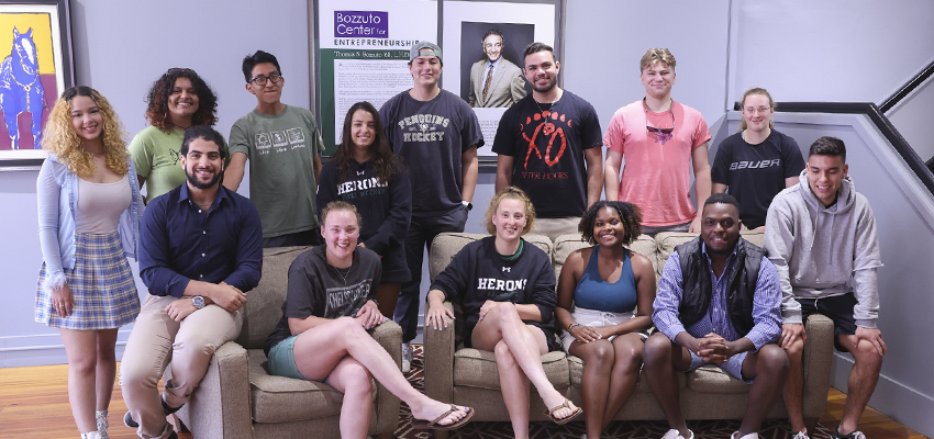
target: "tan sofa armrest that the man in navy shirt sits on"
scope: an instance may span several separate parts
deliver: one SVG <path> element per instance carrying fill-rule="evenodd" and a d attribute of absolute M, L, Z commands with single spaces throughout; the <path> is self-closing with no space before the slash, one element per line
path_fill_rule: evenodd
<path fill-rule="evenodd" d="M 246 349 L 221 345 L 178 417 L 197 438 L 253 438 Z"/>

